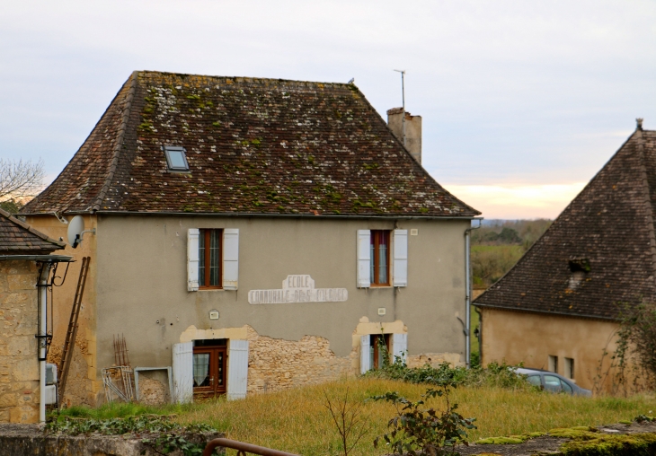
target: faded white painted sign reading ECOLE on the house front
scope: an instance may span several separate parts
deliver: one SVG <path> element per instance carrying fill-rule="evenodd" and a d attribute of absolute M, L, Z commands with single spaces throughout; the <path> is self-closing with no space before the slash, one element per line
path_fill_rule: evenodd
<path fill-rule="evenodd" d="M 315 288 L 311 276 L 287 276 L 278 290 L 251 290 L 251 304 L 341 303 L 349 298 L 346 288 Z"/>

